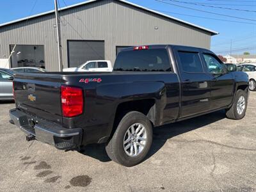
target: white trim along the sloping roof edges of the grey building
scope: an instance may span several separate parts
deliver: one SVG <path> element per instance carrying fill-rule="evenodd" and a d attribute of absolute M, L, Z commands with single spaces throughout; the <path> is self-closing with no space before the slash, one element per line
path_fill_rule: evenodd
<path fill-rule="evenodd" d="M 90 0 L 90 1 L 85 1 L 85 2 L 82 2 L 82 3 L 72 4 L 72 5 L 70 5 L 70 6 L 65 6 L 65 7 L 63 7 L 63 8 L 59 8 L 58 10 L 59 10 L 59 11 L 61 11 L 61 10 L 67 10 L 67 9 L 69 9 L 69 8 L 74 8 L 74 7 L 76 7 L 76 6 L 80 6 L 80 5 L 92 3 L 92 2 L 94 2 L 94 1 L 99 1 L 99 0 Z M 204 30 L 204 31 L 208 31 L 208 32 L 212 33 L 212 35 L 218 35 L 218 34 L 219 34 L 217 31 L 212 31 L 211 29 L 203 28 L 203 27 L 201 27 L 201 26 L 192 24 L 192 23 L 187 22 L 187 21 L 185 21 L 185 20 L 177 19 L 176 17 L 172 17 L 172 16 L 170 16 L 170 15 L 166 15 L 166 14 L 161 13 L 161 12 L 156 12 L 156 11 L 154 11 L 154 10 L 150 10 L 150 9 L 148 9 L 148 8 L 145 8 L 145 7 L 140 6 L 140 5 L 138 5 L 138 4 L 131 3 L 131 2 L 126 1 L 126 0 L 114 0 L 114 1 L 120 1 L 120 2 L 125 3 L 125 4 L 130 4 L 130 5 L 132 5 L 132 6 L 135 6 L 135 7 L 137 7 L 137 8 L 141 8 L 141 9 L 146 10 L 146 11 L 148 11 L 148 12 L 156 13 L 157 15 L 161 15 L 161 16 L 163 16 L 163 17 L 167 17 L 167 18 L 172 19 L 172 20 L 177 20 L 177 21 L 182 22 L 182 23 L 184 23 L 184 24 L 188 24 L 189 26 L 193 26 L 193 27 L 195 27 L 195 28 L 202 29 L 202 30 Z M 49 12 L 39 13 L 39 14 L 32 15 L 32 16 L 29 16 L 29 17 L 24 17 L 24 18 L 22 18 L 22 19 L 12 20 L 12 21 L 10 21 L 10 22 L 5 22 L 5 23 L 3 23 L 3 24 L 0 24 L 0 28 L 3 27 L 3 26 L 7 26 L 7 25 L 9 25 L 9 24 L 13 24 L 13 23 L 15 23 L 15 22 L 20 22 L 20 21 L 22 21 L 22 20 L 27 20 L 27 19 L 33 19 L 33 18 L 35 18 L 35 17 L 40 17 L 40 16 L 42 16 L 42 15 L 47 15 L 47 14 L 49 14 L 49 13 L 54 13 L 54 10 L 51 10 L 51 11 L 49 11 Z"/>

